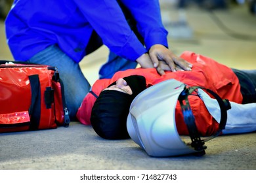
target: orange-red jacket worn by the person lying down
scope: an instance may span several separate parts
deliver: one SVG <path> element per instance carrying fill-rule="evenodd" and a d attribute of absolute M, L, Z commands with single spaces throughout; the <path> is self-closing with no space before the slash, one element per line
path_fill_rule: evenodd
<path fill-rule="evenodd" d="M 118 78 L 130 75 L 142 75 L 146 78 L 148 87 L 163 80 L 174 78 L 184 82 L 188 86 L 202 86 L 213 90 L 213 92 L 217 93 L 223 99 L 242 103 L 240 84 L 232 69 L 221 63 L 217 63 L 217 61 L 211 58 L 195 54 L 194 52 L 183 52 L 181 58 L 193 64 L 192 71 L 165 72 L 165 75 L 160 76 L 156 69 L 129 69 L 127 71 L 117 72 L 111 79 L 96 80 L 95 84 L 93 84 L 92 91 L 96 95 L 99 95 L 104 88 Z M 83 99 L 83 103 L 77 112 L 77 118 L 82 124 L 91 124 L 91 108 L 95 101 L 96 97 L 91 93 L 88 93 L 85 99 Z M 189 102 L 196 118 L 198 131 L 205 136 L 213 135 L 218 130 L 219 124 L 211 117 L 203 101 L 199 97 L 190 96 Z M 188 135 L 179 103 L 177 104 L 175 118 L 179 134 Z"/>

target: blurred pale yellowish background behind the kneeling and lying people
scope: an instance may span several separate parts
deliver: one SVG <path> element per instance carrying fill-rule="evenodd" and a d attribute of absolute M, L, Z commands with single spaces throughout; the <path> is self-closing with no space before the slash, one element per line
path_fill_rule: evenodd
<path fill-rule="evenodd" d="M 5 38 L 5 17 L 13 0 L 0 0 L 0 59 L 13 60 Z M 255 0 L 160 0 L 169 47 L 203 54 L 237 69 L 256 69 Z M 108 56 L 102 46 L 81 62 L 91 84 Z"/>

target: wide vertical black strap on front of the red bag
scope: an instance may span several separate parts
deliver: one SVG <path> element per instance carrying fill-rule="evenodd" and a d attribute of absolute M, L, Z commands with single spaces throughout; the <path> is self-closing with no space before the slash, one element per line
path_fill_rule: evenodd
<path fill-rule="evenodd" d="M 28 113 L 30 114 L 30 130 L 38 129 L 41 117 L 41 87 L 38 75 L 28 76 L 30 79 L 30 87 L 32 100 Z"/>

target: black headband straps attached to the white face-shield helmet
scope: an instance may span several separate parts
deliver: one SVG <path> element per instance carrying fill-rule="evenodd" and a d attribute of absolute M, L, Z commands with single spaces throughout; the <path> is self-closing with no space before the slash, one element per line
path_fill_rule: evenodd
<path fill-rule="evenodd" d="M 188 95 L 192 95 L 193 92 L 197 93 L 198 88 L 201 88 L 203 90 L 206 90 L 207 92 L 211 93 L 215 99 L 217 99 L 219 103 L 219 107 L 221 109 L 221 121 L 219 123 L 219 130 L 210 137 L 207 137 L 206 139 L 201 139 L 200 134 L 198 133 L 198 129 L 196 127 L 195 118 L 193 115 L 193 112 L 190 108 L 189 102 L 188 102 Z M 181 104 L 181 110 L 184 118 L 184 122 L 186 126 L 188 127 L 188 133 L 190 135 L 191 143 L 187 143 L 186 145 L 191 146 L 196 150 L 197 156 L 203 156 L 205 154 L 205 149 L 207 148 L 204 146 L 205 142 L 217 137 L 225 128 L 226 126 L 226 119 L 227 119 L 227 110 L 231 108 L 231 105 L 228 101 L 228 99 L 221 99 L 217 93 L 202 88 L 200 86 L 192 86 L 192 87 L 186 87 L 184 86 L 184 90 L 179 95 L 179 103 Z"/>

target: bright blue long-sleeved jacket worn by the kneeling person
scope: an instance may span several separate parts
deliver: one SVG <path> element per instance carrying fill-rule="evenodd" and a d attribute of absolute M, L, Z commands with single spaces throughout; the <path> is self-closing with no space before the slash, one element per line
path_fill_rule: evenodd
<path fill-rule="evenodd" d="M 7 43 L 16 60 L 57 44 L 81 61 L 93 33 L 117 55 L 135 61 L 154 44 L 167 45 L 158 0 L 120 0 L 137 22 L 143 45 L 131 30 L 116 0 L 14 0 L 5 20 Z"/>

